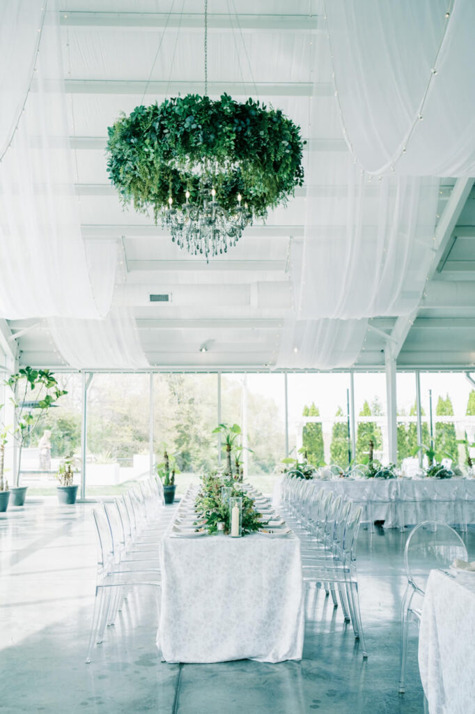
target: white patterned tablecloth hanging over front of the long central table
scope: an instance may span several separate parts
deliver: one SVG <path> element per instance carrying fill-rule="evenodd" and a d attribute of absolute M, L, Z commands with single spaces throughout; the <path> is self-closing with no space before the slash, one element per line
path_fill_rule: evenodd
<path fill-rule="evenodd" d="M 204 535 L 161 547 L 157 645 L 167 662 L 300 660 L 304 608 L 295 535 Z"/>

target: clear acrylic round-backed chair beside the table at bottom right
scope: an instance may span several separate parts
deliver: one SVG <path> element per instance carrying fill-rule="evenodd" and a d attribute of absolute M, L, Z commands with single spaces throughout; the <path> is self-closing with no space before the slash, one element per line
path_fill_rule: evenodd
<path fill-rule="evenodd" d="M 407 587 L 401 606 L 401 644 L 399 650 L 399 692 L 406 687 L 407 635 L 409 623 L 418 627 L 429 573 L 448 568 L 455 558 L 467 560 L 464 541 L 447 523 L 423 521 L 407 538 L 404 565 Z"/>

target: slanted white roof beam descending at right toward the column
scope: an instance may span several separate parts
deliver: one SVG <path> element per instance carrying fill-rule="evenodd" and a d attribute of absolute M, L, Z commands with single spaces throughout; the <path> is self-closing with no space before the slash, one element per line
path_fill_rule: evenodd
<path fill-rule="evenodd" d="M 473 178 L 457 178 L 455 182 L 450 198 L 444 208 L 444 213 L 442 213 L 439 223 L 437 223 L 434 231 L 434 260 L 432 261 L 432 267 L 429 269 L 429 273 L 427 275 L 428 280 L 434 276 L 434 273 L 436 272 L 439 261 L 444 254 L 447 243 L 449 243 L 454 233 L 456 222 L 458 221 L 461 211 L 465 206 L 467 198 L 469 198 L 473 186 Z M 398 358 L 404 342 L 406 341 L 409 330 L 412 327 L 412 323 L 414 323 L 419 308 L 422 306 L 424 306 L 424 298 L 422 298 L 422 301 L 419 302 L 419 306 L 412 311 L 412 313 L 397 318 L 396 324 L 394 325 L 391 333 L 394 341 L 390 346 L 388 346 L 393 358 Z"/>

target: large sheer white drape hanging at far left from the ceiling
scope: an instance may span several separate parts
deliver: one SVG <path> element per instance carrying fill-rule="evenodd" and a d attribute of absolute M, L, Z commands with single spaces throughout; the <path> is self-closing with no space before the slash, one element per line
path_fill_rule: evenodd
<path fill-rule="evenodd" d="M 46 7 L 33 89 L 0 164 L 0 317 L 101 318 L 111 305 L 116 246 L 101 247 L 99 285 L 73 186 L 58 11 L 52 0 Z"/>

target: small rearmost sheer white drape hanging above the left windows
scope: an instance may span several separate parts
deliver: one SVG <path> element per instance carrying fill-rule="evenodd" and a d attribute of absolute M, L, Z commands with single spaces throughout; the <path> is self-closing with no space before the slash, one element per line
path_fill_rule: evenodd
<path fill-rule="evenodd" d="M 58 351 L 74 369 L 140 369 L 149 366 L 131 308 L 111 308 L 103 320 L 51 318 Z"/>

